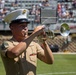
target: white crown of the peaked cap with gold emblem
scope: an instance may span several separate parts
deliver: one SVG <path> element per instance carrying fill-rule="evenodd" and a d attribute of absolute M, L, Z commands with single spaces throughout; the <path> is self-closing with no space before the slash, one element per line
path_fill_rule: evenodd
<path fill-rule="evenodd" d="M 8 13 L 4 17 L 4 21 L 7 23 L 11 23 L 13 20 L 18 20 L 18 19 L 20 19 L 20 20 L 26 19 L 28 21 L 28 14 L 29 14 L 28 9 L 17 9 L 17 10 L 14 10 L 14 11 Z"/>

